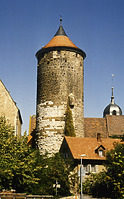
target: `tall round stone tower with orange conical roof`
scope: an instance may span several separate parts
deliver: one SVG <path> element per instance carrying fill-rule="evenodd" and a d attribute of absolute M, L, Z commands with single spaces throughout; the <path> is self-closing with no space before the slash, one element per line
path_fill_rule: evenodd
<path fill-rule="evenodd" d="M 37 53 L 36 144 L 42 154 L 56 153 L 64 137 L 69 101 L 77 137 L 84 136 L 84 68 L 86 57 L 67 37 L 62 19 L 52 40 Z"/>

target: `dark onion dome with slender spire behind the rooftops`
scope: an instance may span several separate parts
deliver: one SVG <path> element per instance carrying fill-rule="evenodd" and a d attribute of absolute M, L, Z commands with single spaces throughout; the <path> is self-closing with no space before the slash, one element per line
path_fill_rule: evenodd
<path fill-rule="evenodd" d="M 111 103 L 104 109 L 103 117 L 106 115 L 122 115 L 121 108 L 115 104 L 114 96 L 113 96 L 113 87 L 112 87 L 112 96 L 111 96 Z"/>

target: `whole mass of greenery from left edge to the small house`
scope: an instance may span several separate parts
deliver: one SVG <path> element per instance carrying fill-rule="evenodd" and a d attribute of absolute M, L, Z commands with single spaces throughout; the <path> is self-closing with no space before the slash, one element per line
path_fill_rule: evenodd
<path fill-rule="evenodd" d="M 59 195 L 69 195 L 69 167 L 55 154 L 48 158 L 27 145 L 26 135 L 20 140 L 13 128 L 0 118 L 0 191 L 15 189 L 19 193 L 55 195 L 53 184 L 61 184 Z"/>

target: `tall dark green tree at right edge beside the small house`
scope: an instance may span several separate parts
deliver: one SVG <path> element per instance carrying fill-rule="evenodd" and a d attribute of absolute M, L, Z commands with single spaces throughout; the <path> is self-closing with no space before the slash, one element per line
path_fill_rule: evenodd
<path fill-rule="evenodd" d="M 124 198 L 124 144 L 115 143 L 106 156 L 106 168 L 112 195 Z"/>

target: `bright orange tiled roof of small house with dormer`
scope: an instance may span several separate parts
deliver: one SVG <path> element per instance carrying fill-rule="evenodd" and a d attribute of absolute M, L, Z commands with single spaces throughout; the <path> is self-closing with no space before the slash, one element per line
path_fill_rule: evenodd
<path fill-rule="evenodd" d="M 74 159 L 80 159 L 82 154 L 86 154 L 83 159 L 105 160 L 95 153 L 95 149 L 103 146 L 106 151 L 113 148 L 113 143 L 120 142 L 120 139 L 103 138 L 98 142 L 96 138 L 65 137 L 65 141 Z"/>

